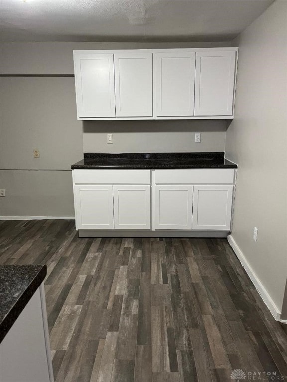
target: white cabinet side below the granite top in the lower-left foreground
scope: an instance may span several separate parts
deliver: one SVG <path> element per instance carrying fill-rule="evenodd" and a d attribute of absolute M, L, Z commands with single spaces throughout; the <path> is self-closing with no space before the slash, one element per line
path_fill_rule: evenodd
<path fill-rule="evenodd" d="M 0 345 L 1 382 L 54 382 L 44 283 Z"/>

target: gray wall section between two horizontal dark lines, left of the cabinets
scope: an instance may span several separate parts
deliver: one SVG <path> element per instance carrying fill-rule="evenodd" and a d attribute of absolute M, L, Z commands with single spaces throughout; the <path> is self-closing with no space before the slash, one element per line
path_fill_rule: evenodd
<path fill-rule="evenodd" d="M 73 77 L 1 77 L 0 89 L 2 169 L 67 170 L 82 157 Z"/>

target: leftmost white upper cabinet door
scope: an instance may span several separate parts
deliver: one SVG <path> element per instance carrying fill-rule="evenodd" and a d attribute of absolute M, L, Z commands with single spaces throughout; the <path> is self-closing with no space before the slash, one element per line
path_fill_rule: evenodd
<path fill-rule="evenodd" d="M 78 118 L 115 117 L 113 54 L 76 54 Z"/>

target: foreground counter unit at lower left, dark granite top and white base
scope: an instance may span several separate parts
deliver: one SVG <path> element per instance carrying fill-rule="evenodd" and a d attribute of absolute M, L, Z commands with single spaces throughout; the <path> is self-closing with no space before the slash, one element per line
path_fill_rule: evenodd
<path fill-rule="evenodd" d="M 0 268 L 0 381 L 54 382 L 44 279 L 46 265 Z"/>

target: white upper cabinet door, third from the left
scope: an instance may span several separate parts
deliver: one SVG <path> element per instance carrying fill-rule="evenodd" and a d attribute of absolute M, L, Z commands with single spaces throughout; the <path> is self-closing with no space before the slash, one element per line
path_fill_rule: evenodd
<path fill-rule="evenodd" d="M 155 53 L 156 116 L 194 115 L 194 52 Z"/>

